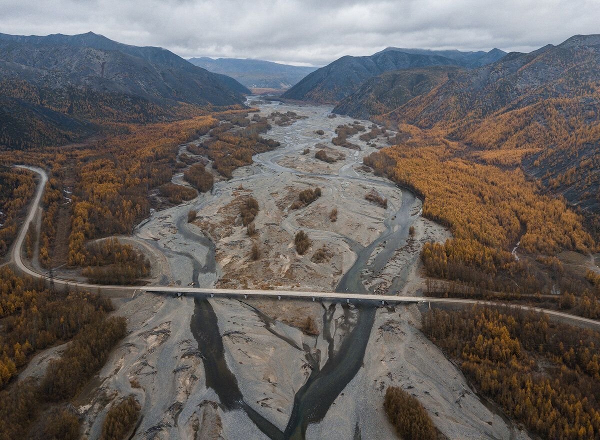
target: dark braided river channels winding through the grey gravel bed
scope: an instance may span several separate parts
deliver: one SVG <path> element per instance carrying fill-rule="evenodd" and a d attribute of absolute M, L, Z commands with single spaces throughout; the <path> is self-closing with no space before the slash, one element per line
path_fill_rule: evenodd
<path fill-rule="evenodd" d="M 277 104 L 265 103 L 260 107 L 277 109 Z M 319 126 L 319 119 L 326 120 L 329 111 L 325 108 L 319 109 L 320 114 L 317 117 L 312 117 L 308 120 L 299 120 L 292 126 L 285 127 L 289 130 L 289 133 L 284 133 L 281 148 L 254 156 L 254 162 L 263 166 L 262 173 L 292 173 L 295 175 L 319 176 L 328 180 L 358 180 L 367 185 L 376 183 L 377 185 L 386 185 L 395 188 L 393 183 L 370 179 L 356 173 L 352 169 L 352 165 L 362 161 L 362 155 L 357 154 L 359 152 L 353 152 L 352 157 L 354 161 L 348 165 L 344 165 L 339 174 L 303 173 L 302 171 L 293 170 L 278 163 L 278 159 L 289 153 L 290 149 L 302 150 L 307 145 L 314 144 L 314 139 L 304 138 L 301 135 L 301 129 L 306 125 L 310 125 L 315 130 L 321 128 Z M 342 122 L 340 121 L 340 123 Z M 271 137 L 271 132 L 265 136 Z M 248 179 L 245 177 L 240 180 L 243 180 L 245 185 L 251 185 L 251 178 Z M 212 197 L 218 197 L 220 185 L 232 185 L 232 183 L 235 184 L 235 179 L 233 179 L 233 182 L 217 183 Z M 336 292 L 368 292 L 362 282 L 361 272 L 364 269 L 370 269 L 373 272 L 382 269 L 389 258 L 394 255 L 394 252 L 406 243 L 410 224 L 412 224 L 417 216 L 410 213 L 415 203 L 415 197 L 400 188 L 396 188 L 396 191 L 402 193 L 401 206 L 398 209 L 387 210 L 386 218 L 384 219 L 385 230 L 375 240 L 367 246 L 362 246 L 355 240 L 344 237 L 350 248 L 356 252 L 356 260 L 350 269 L 344 273 L 343 277 L 341 277 L 337 284 Z M 200 205 L 200 209 L 201 207 Z M 179 219 L 178 229 L 180 231 L 187 230 L 184 218 Z M 183 233 L 191 234 L 189 230 Z M 374 249 L 384 242 L 386 243 L 385 247 L 369 263 Z M 211 243 L 206 243 L 206 246 L 209 251 L 208 261 L 202 267 L 197 262 L 193 265 L 193 281 L 199 286 L 206 285 L 203 283 L 203 278 L 206 280 L 209 274 L 213 274 L 214 276 L 217 270 L 214 264 L 214 245 L 211 246 Z M 209 278 L 212 277 L 209 276 Z M 304 385 L 296 392 L 293 399 L 292 414 L 290 415 L 286 429 L 282 431 L 244 401 L 244 397 L 238 387 L 238 381 L 227 366 L 217 316 L 210 301 L 197 297 L 194 299 L 194 304 L 195 311 L 190 328 L 194 338 L 196 338 L 199 350 L 203 353 L 207 387 L 215 390 L 224 408 L 228 410 L 242 409 L 246 412 L 250 420 L 268 438 L 273 440 L 304 439 L 308 424 L 317 423 L 325 417 L 332 403 L 350 380 L 353 379 L 363 364 L 363 356 L 377 310 L 376 305 L 367 303 L 353 305 L 331 304 L 329 307 L 324 307 L 323 338 L 328 340 L 329 343 L 328 359 L 321 368 L 319 368 L 318 362 L 312 362 L 313 369 L 311 374 Z M 335 308 L 338 307 L 344 309 L 344 317 L 347 317 L 344 322 L 347 328 L 345 332 L 346 336 L 334 349 L 334 341 L 328 332 L 332 325 L 331 319 L 334 316 Z M 310 361 L 311 359 L 308 360 Z M 359 436 L 358 433 L 356 436 Z"/>

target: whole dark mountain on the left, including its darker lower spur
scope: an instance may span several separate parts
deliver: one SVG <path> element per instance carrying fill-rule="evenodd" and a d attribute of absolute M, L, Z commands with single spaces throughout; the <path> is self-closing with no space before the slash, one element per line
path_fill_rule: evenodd
<path fill-rule="evenodd" d="M 76 140 L 89 133 L 88 121 L 157 121 L 238 105 L 245 93 L 235 79 L 160 47 L 130 46 L 92 32 L 0 34 L 0 144 L 8 147 Z"/>

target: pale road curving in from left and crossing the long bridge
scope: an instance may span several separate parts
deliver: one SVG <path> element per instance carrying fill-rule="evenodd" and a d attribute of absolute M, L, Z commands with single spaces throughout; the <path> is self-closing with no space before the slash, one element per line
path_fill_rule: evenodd
<path fill-rule="evenodd" d="M 46 171 L 41 168 L 36 167 L 28 167 L 25 165 L 17 165 L 20 168 L 26 168 L 28 170 L 37 173 L 40 176 L 40 183 L 38 183 L 38 187 L 35 191 L 34 200 L 32 200 L 31 206 L 29 207 L 25 222 L 17 235 L 16 242 L 13 245 L 13 249 L 11 250 L 11 261 L 15 264 L 15 266 L 21 270 L 26 275 L 29 275 L 34 278 L 47 278 L 45 273 L 40 273 L 27 266 L 22 258 L 21 249 L 23 248 L 23 242 L 25 242 L 25 237 L 27 234 L 27 230 L 29 228 L 29 224 L 33 221 L 35 217 L 35 212 L 41 203 L 41 198 L 44 193 L 44 188 L 46 188 L 46 182 L 48 180 L 48 176 Z M 70 286 L 77 287 L 83 290 L 100 290 L 106 292 L 121 292 L 121 293 L 134 293 L 136 291 L 145 291 L 152 293 L 169 293 L 170 295 L 178 295 L 185 293 L 194 293 L 201 295 L 210 295 L 210 296 L 229 296 L 234 298 L 275 298 L 283 299 L 283 298 L 305 298 L 312 299 L 316 301 L 317 299 L 328 299 L 332 301 L 341 301 L 341 302 L 353 302 L 353 301 L 373 301 L 373 302 L 387 302 L 388 304 L 394 303 L 434 303 L 434 304 L 472 304 L 472 305 L 494 305 L 494 306 L 503 306 L 510 307 L 519 310 L 525 311 L 535 311 L 538 313 L 544 313 L 548 316 L 559 317 L 562 319 L 569 320 L 573 323 L 580 323 L 586 325 L 597 326 L 600 328 L 600 321 L 593 320 L 589 318 L 584 318 L 582 316 L 573 315 L 570 313 L 564 313 L 557 310 L 549 310 L 545 308 L 530 306 L 530 305 L 521 305 L 521 304 L 512 304 L 508 302 L 500 302 L 500 301 L 484 301 L 479 299 L 463 299 L 463 298 L 433 298 L 433 297 L 425 297 L 425 296 L 395 296 L 395 295 L 371 295 L 364 293 L 335 293 L 335 292 L 301 292 L 301 291 L 289 291 L 289 290 L 252 290 L 252 289 L 205 289 L 205 288 L 197 288 L 197 287 L 160 287 L 160 286 L 107 286 L 106 284 L 91 284 L 91 283 L 78 283 L 76 281 L 62 280 L 61 278 L 55 278 L 54 283 L 58 286 Z"/>

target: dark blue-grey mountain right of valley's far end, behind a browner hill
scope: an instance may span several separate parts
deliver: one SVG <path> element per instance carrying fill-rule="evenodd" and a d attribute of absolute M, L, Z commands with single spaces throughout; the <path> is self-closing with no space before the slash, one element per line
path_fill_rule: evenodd
<path fill-rule="evenodd" d="M 389 50 L 370 57 L 341 57 L 308 74 L 282 96 L 287 99 L 337 103 L 354 93 L 369 78 L 391 70 L 427 66 L 457 66 L 457 61 L 437 55 L 415 55 Z"/>

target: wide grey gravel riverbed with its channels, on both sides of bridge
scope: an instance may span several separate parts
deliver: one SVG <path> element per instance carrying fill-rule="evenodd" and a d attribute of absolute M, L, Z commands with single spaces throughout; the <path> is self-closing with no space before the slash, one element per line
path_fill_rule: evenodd
<path fill-rule="evenodd" d="M 259 102 L 263 116 L 293 111 L 305 118 L 273 123 L 266 137 L 281 147 L 257 154 L 211 193 L 155 212 L 136 228 L 127 240 L 152 255 L 149 281 L 419 295 L 421 246 L 449 232 L 422 218 L 421 201 L 410 192 L 361 168 L 362 157 L 387 138 L 367 144 L 355 135 L 350 141 L 360 151 L 337 147 L 335 127 L 352 119 L 329 118 L 324 106 Z M 343 159 L 316 159 L 321 148 Z M 300 191 L 317 186 L 320 198 L 290 209 Z M 365 200 L 371 191 L 387 198 L 386 209 Z M 254 237 L 238 217 L 247 197 L 260 207 Z M 192 209 L 199 216 L 188 224 Z M 304 255 L 294 245 L 299 230 L 312 242 Z M 256 261 L 253 242 L 261 254 Z M 323 247 L 329 258 L 317 262 L 314 253 Z M 528 438 L 482 402 L 421 334 L 415 305 L 375 309 L 150 293 L 115 302 L 130 334 L 76 402 L 91 439 L 100 434 L 107 403 L 128 394 L 142 405 L 135 439 L 395 438 L 383 412 L 389 385 L 416 396 L 448 438 Z M 34 358 L 32 371 L 40 374 L 49 357 Z"/>

